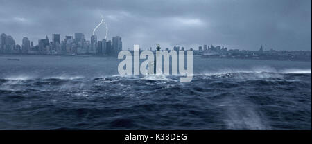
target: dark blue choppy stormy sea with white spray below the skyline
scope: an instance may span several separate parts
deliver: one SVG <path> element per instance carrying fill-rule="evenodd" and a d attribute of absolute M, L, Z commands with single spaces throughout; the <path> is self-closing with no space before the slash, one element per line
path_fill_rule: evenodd
<path fill-rule="evenodd" d="M 187 83 L 120 61 L 0 55 L 0 129 L 311 129 L 311 61 L 194 56 Z"/>

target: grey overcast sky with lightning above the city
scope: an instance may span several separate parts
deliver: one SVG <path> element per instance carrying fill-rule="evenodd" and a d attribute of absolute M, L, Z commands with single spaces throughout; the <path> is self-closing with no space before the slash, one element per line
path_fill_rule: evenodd
<path fill-rule="evenodd" d="M 53 33 L 84 33 L 105 17 L 108 38 L 123 49 L 203 44 L 228 48 L 311 51 L 311 0 L 0 0 L 0 33 L 17 44 Z M 105 25 L 96 30 L 105 38 Z"/>

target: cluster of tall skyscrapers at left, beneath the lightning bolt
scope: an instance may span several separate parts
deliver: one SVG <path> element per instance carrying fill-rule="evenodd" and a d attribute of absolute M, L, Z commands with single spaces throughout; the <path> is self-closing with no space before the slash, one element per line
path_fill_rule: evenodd
<path fill-rule="evenodd" d="M 30 54 L 30 55 L 117 55 L 122 50 L 121 37 L 115 36 L 110 39 L 99 39 L 92 35 L 85 39 L 83 33 L 65 35 L 64 39 L 60 34 L 52 34 L 49 39 L 39 39 L 35 44 L 28 37 L 23 37 L 22 44 L 16 44 L 14 37 L 2 33 L 0 35 L 1 54 Z"/>

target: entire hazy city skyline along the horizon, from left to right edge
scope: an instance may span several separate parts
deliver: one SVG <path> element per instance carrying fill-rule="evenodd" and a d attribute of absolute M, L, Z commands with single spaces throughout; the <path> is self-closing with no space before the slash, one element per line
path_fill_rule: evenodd
<path fill-rule="evenodd" d="M 194 55 L 201 55 L 203 58 L 239 58 L 254 60 L 300 60 L 311 61 L 311 51 L 277 51 L 274 48 L 264 48 L 263 45 L 257 51 L 240 50 L 227 48 L 225 46 L 214 46 L 213 44 L 199 45 L 196 48 L 185 48 L 175 45 L 173 48 L 150 47 L 150 51 L 193 51 Z M 147 49 L 147 48 L 146 48 Z M 39 39 L 37 45 L 24 37 L 22 44 L 16 44 L 14 37 L 2 33 L 0 35 L 0 54 L 24 54 L 24 55 L 119 55 L 123 50 L 121 37 L 115 36 L 110 39 L 101 39 L 92 35 L 86 39 L 83 33 L 65 35 L 60 39 L 60 34 L 48 35 Z M 128 49 L 130 50 L 130 48 Z M 144 50 L 142 48 L 142 50 Z M 133 52 L 133 51 L 132 51 Z"/>

